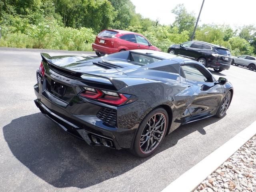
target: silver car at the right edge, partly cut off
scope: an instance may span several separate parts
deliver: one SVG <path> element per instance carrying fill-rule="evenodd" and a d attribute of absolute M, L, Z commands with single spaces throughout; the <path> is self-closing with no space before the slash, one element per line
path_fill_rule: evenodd
<path fill-rule="evenodd" d="M 236 66 L 245 66 L 253 71 L 256 68 L 256 58 L 249 55 L 241 55 L 238 57 L 233 57 L 231 64 Z"/>

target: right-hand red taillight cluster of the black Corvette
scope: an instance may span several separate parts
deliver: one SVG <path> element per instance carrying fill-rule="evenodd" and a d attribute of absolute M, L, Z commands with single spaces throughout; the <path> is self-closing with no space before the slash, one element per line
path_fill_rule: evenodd
<path fill-rule="evenodd" d="M 84 91 L 81 92 L 79 95 L 95 99 L 100 102 L 108 103 L 111 105 L 122 105 L 128 101 L 128 98 L 124 96 L 124 94 L 111 92 L 111 91 L 104 91 L 104 90 L 98 90 L 94 88 L 87 88 L 84 87 Z M 131 102 L 134 102 L 135 100 L 131 100 Z"/>

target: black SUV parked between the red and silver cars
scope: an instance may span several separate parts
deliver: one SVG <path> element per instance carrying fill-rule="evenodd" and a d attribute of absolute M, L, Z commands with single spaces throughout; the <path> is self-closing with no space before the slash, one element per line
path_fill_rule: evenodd
<path fill-rule="evenodd" d="M 205 67 L 221 72 L 230 68 L 232 57 L 227 48 L 201 41 L 189 41 L 180 45 L 171 45 L 168 53 L 196 60 Z"/>

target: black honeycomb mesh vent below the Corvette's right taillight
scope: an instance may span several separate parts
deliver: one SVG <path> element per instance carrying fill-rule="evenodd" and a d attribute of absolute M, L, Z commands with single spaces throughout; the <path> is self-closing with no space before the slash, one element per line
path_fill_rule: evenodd
<path fill-rule="evenodd" d="M 97 117 L 107 124 L 116 127 L 116 110 L 110 108 L 102 108 Z"/>

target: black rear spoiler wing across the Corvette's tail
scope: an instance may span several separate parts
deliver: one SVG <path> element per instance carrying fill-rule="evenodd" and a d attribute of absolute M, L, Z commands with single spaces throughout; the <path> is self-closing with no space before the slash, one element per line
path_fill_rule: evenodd
<path fill-rule="evenodd" d="M 120 90 L 126 86 L 128 86 L 125 82 L 122 80 L 118 80 L 114 77 L 106 77 L 96 74 L 90 74 L 90 73 L 84 73 L 84 72 L 76 72 L 72 71 L 63 67 L 60 67 L 58 65 L 55 65 L 52 61 L 52 57 L 47 53 L 40 53 L 42 60 L 48 64 L 50 68 L 53 68 L 57 71 L 60 71 L 64 74 L 67 74 L 69 76 L 73 76 L 76 78 L 81 78 L 82 80 L 93 82 L 93 83 L 100 83 L 100 84 L 111 84 L 114 86 L 116 90 Z"/>

